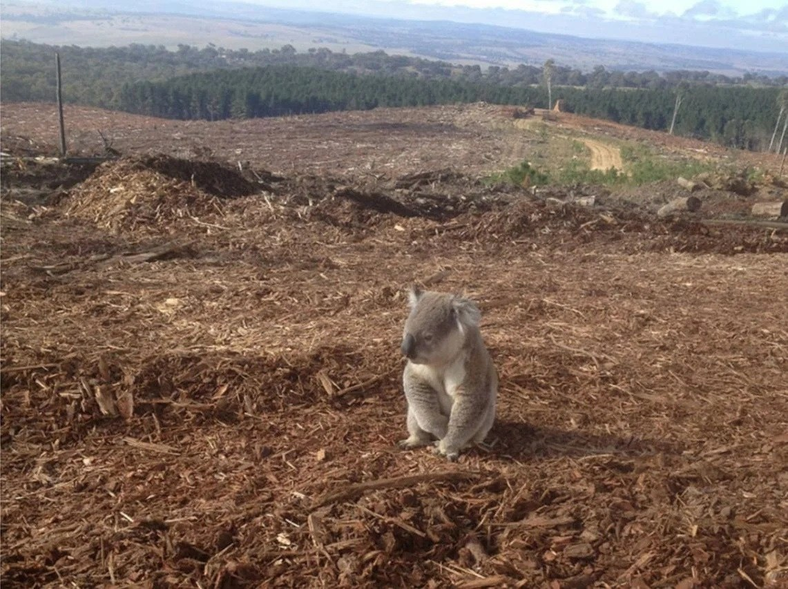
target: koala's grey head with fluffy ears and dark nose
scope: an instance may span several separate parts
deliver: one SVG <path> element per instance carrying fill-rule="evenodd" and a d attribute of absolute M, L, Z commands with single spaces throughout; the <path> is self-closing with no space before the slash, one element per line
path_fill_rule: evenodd
<path fill-rule="evenodd" d="M 440 365 L 463 347 L 463 330 L 451 294 L 411 293 L 411 314 L 405 321 L 402 353 L 414 364 Z"/>

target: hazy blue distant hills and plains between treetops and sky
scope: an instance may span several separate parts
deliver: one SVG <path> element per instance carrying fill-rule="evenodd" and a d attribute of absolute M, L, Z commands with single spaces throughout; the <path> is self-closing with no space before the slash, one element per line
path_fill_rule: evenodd
<path fill-rule="evenodd" d="M 560 65 L 590 70 L 691 69 L 726 75 L 788 74 L 788 52 L 712 49 L 683 45 L 583 39 L 485 24 L 395 20 L 271 9 L 233 2 L 205 7 L 189 2 L 2 3 L 4 39 L 76 46 L 130 43 L 215 46 L 259 50 L 292 45 L 299 51 L 325 47 L 349 54 L 388 54 L 440 59 L 455 64 L 516 67 Z M 111 9 L 106 7 L 110 6 Z"/>

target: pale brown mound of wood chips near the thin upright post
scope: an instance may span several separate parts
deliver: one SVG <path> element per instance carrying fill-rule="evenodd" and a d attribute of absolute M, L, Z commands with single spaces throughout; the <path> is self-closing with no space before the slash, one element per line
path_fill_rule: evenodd
<path fill-rule="evenodd" d="M 165 175 L 139 160 L 102 164 L 72 190 L 65 206 L 69 217 L 89 219 L 112 231 L 155 228 L 184 218 L 221 212 L 220 199 L 214 194 L 189 180 Z"/>

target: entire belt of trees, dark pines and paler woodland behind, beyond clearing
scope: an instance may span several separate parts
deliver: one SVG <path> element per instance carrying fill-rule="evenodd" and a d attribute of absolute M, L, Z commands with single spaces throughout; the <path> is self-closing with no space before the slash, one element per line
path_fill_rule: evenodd
<path fill-rule="evenodd" d="M 601 66 L 581 72 L 552 60 L 541 67 L 482 70 L 383 51 L 299 53 L 292 46 L 251 52 L 181 45 L 171 51 L 2 41 L 0 100 L 53 100 L 56 51 L 66 102 L 157 117 L 218 120 L 477 101 L 544 107 L 563 98 L 576 113 L 667 130 L 680 103 L 676 134 L 750 150 L 764 149 L 772 139 L 776 99 L 788 83 L 786 76 L 615 72 Z M 250 64 L 262 67 L 244 67 Z"/>

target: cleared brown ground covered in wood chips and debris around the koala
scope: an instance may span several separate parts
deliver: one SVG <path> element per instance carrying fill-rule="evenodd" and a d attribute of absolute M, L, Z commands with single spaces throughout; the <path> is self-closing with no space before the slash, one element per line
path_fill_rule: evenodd
<path fill-rule="evenodd" d="M 788 583 L 779 224 L 490 185 L 542 135 L 486 105 L 69 109 L 99 167 L 23 157 L 46 108 L 2 107 L 3 587 Z M 550 128 L 772 177 L 706 217 L 784 198 L 777 158 L 601 125 Z M 413 282 L 478 300 L 500 372 L 457 463 L 396 448 Z"/>

